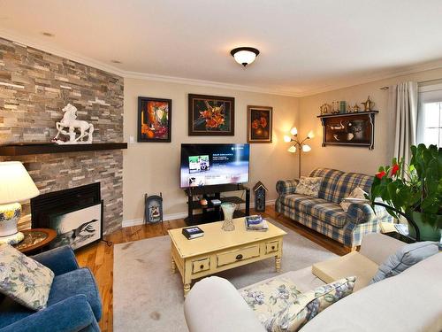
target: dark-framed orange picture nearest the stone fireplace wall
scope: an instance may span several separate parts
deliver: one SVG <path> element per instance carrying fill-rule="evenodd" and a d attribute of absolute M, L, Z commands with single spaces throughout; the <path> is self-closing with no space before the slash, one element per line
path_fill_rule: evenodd
<path fill-rule="evenodd" d="M 138 97 L 138 142 L 171 142 L 171 99 Z"/>

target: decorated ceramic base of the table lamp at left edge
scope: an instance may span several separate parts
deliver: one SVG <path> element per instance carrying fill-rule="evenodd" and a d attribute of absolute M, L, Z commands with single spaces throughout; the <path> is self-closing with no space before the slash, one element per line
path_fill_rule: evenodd
<path fill-rule="evenodd" d="M 25 238 L 17 228 L 20 215 L 19 203 L 0 205 L 0 243 L 16 244 Z"/>

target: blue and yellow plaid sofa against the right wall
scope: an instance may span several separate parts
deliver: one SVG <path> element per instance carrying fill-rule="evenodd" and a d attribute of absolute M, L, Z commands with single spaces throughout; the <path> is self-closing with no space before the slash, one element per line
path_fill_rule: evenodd
<path fill-rule="evenodd" d="M 379 232 L 380 222 L 392 222 L 392 216 L 382 206 L 376 205 L 375 213 L 367 204 L 352 204 L 347 212 L 339 205 L 356 187 L 370 192 L 372 176 L 329 168 L 316 168 L 309 176 L 323 178 L 318 197 L 296 194 L 298 180 L 277 182 L 278 213 L 349 247 L 360 245 L 362 235 Z"/>

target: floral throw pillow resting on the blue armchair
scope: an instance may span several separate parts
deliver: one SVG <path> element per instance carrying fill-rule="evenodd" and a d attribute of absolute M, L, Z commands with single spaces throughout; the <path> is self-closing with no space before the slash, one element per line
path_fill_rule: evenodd
<path fill-rule="evenodd" d="M 9 244 L 0 244 L 0 293 L 32 310 L 46 307 L 54 273 Z"/>

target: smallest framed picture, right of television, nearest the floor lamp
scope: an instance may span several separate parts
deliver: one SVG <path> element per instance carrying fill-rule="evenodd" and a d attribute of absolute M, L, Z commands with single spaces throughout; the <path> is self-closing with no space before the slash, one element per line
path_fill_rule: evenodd
<path fill-rule="evenodd" d="M 248 143 L 271 143 L 273 109 L 248 106 Z"/>

